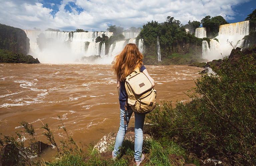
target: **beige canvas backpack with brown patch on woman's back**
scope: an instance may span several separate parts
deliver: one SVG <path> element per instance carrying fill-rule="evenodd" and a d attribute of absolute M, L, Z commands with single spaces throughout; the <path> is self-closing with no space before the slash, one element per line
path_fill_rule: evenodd
<path fill-rule="evenodd" d="M 131 107 L 137 113 L 149 113 L 156 107 L 156 90 L 148 77 L 140 72 L 140 68 L 125 78 L 126 107 Z M 127 109 L 127 108 L 126 108 Z"/>

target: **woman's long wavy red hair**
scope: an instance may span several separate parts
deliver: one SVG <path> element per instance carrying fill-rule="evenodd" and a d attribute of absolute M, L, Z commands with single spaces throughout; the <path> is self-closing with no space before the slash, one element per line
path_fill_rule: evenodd
<path fill-rule="evenodd" d="M 122 52 L 115 57 L 113 65 L 114 73 L 120 81 L 124 81 L 135 67 L 143 65 L 143 55 L 136 44 L 127 44 Z"/>

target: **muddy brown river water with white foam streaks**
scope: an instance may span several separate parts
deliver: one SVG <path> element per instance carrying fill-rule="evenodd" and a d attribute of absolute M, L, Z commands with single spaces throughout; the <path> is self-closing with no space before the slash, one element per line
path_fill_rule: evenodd
<path fill-rule="evenodd" d="M 188 102 L 183 92 L 195 86 L 202 68 L 187 65 L 145 65 L 155 80 L 157 103 Z M 120 108 L 116 77 L 110 64 L 8 64 L 0 63 L 0 132 L 15 135 L 22 121 L 32 124 L 37 139 L 48 143 L 42 125 L 48 124 L 59 140 L 69 136 L 83 144 L 96 144 L 117 131 Z M 129 126 L 134 125 L 131 120 Z M 26 138 L 26 135 L 25 135 Z M 25 141 L 26 142 L 26 141 Z M 86 149 L 84 149 L 86 150 Z M 51 153 L 44 153 L 48 160 Z"/>

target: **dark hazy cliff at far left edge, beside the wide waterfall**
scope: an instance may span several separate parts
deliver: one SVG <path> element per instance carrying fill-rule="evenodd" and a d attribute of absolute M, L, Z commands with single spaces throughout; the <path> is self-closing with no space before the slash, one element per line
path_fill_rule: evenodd
<path fill-rule="evenodd" d="M 0 49 L 27 55 L 29 39 L 22 29 L 0 24 Z"/>

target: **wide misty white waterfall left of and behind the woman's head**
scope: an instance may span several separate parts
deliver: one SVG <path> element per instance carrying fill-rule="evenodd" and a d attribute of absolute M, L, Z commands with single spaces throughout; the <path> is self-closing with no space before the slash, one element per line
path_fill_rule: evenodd
<path fill-rule="evenodd" d="M 118 41 L 110 45 L 106 52 L 106 44 L 95 42 L 97 37 L 104 34 L 109 38 L 112 32 L 52 32 L 24 30 L 30 39 L 29 54 L 46 63 L 73 63 L 84 56 L 100 55 L 98 63 L 111 63 L 114 56 L 120 53 L 128 43 L 136 43 L 139 33 L 123 33 L 124 41 Z M 139 40 L 138 46 L 143 52 L 143 40 Z M 107 53 L 107 54 L 106 54 Z"/>

